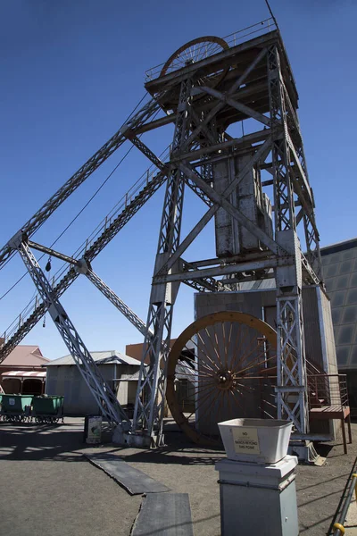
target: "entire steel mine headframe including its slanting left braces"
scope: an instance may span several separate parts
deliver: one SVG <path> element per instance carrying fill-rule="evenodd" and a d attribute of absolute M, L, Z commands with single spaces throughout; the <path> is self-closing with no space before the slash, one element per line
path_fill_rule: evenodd
<path fill-rule="evenodd" d="M 296 112 L 295 80 L 278 29 L 269 19 L 225 39 L 195 39 L 147 74 L 145 88 L 152 96 L 150 102 L 132 113 L 0 249 L 0 267 L 19 252 L 38 290 L 28 317 L 20 316 L 16 329 L 4 333 L 0 362 L 49 310 L 104 416 L 118 425 L 120 440 L 142 446 L 161 445 L 166 367 L 179 284 L 199 291 L 224 292 L 235 289 L 237 281 L 274 276 L 278 416 L 295 423 L 296 438 L 306 438 L 309 424 L 302 288 L 322 284 L 319 233 Z M 163 117 L 156 119 L 159 112 Z M 141 137 L 168 124 L 175 125 L 174 137 L 170 155 L 161 159 Z M 245 125 L 249 133 L 244 132 Z M 75 257 L 31 241 L 31 235 L 56 208 L 127 140 L 152 166 L 145 180 L 130 188 L 118 211 L 105 218 L 103 228 L 87 239 Z M 268 180 L 262 180 L 263 172 L 270 173 Z M 93 272 L 91 262 L 164 182 L 166 192 L 145 325 Z M 207 211 L 181 239 L 187 187 Z M 270 188 L 273 206 L 265 188 Z M 216 256 L 187 262 L 182 255 L 212 219 Z M 306 256 L 298 238 L 300 230 Z M 70 264 L 68 271 L 62 272 L 62 279 L 50 285 L 31 248 Z M 80 273 L 145 334 L 133 423 L 101 377 L 59 302 Z"/>

